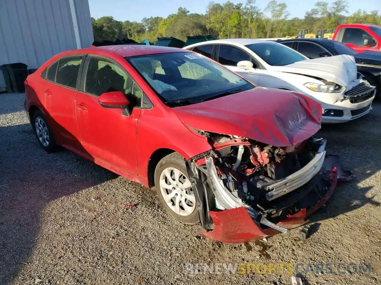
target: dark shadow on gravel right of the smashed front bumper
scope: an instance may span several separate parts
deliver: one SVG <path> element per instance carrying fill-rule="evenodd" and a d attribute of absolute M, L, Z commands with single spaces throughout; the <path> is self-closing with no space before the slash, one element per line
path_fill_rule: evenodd
<path fill-rule="evenodd" d="M 350 182 L 339 183 L 326 207 L 311 215 L 311 222 L 336 217 L 365 204 L 380 206 L 367 195 L 373 186 L 358 186 L 381 169 L 381 102 L 373 103 L 373 108 L 357 120 L 323 125 L 317 133 L 317 136 L 327 139 L 328 153 L 339 154 L 343 167 L 352 170 L 356 177 Z"/>

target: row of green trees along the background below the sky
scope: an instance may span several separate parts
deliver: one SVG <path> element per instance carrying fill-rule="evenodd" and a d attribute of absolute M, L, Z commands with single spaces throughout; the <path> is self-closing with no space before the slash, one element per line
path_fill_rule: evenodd
<path fill-rule="evenodd" d="M 213 35 L 218 38 L 272 38 L 296 35 L 296 30 L 307 28 L 309 33 L 317 29 L 336 28 L 343 23 L 364 23 L 381 25 L 379 11 L 356 11 L 350 16 L 347 0 L 336 0 L 331 5 L 316 2 L 314 8 L 306 11 L 303 19 L 288 19 L 287 5 L 277 0 L 267 2 L 261 11 L 256 0 L 234 4 L 209 2 L 205 14 L 190 13 L 179 7 L 177 12 L 162 17 L 145 17 L 141 22 L 116 21 L 111 16 L 91 19 L 95 40 L 131 38 L 135 41 L 157 37 L 173 36 L 186 40 L 187 36 Z"/>

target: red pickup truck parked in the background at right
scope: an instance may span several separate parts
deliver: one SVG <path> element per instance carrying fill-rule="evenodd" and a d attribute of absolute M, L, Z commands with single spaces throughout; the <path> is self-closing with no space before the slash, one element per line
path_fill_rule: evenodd
<path fill-rule="evenodd" d="M 332 40 L 339 41 L 357 52 L 381 52 L 381 27 L 365 24 L 339 25 Z"/>

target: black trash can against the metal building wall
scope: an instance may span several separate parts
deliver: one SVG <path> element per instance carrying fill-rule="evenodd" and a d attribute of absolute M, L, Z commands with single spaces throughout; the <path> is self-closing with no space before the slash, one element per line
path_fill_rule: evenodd
<path fill-rule="evenodd" d="M 5 66 L 5 67 L 4 67 Z M 28 66 L 25 63 L 17 62 L 2 65 L 2 71 L 4 73 L 4 69 L 7 70 L 9 79 L 10 79 L 10 88 L 7 84 L 6 76 L 4 76 L 5 84 L 7 84 L 9 92 L 13 93 L 24 93 L 25 86 L 24 81 L 28 77 Z"/>

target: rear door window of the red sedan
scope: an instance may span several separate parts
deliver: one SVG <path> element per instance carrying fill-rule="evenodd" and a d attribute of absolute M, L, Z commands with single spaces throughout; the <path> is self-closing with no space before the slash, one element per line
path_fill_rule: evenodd
<path fill-rule="evenodd" d="M 62 57 L 58 64 L 56 83 L 75 89 L 82 58 L 83 55 Z"/>

